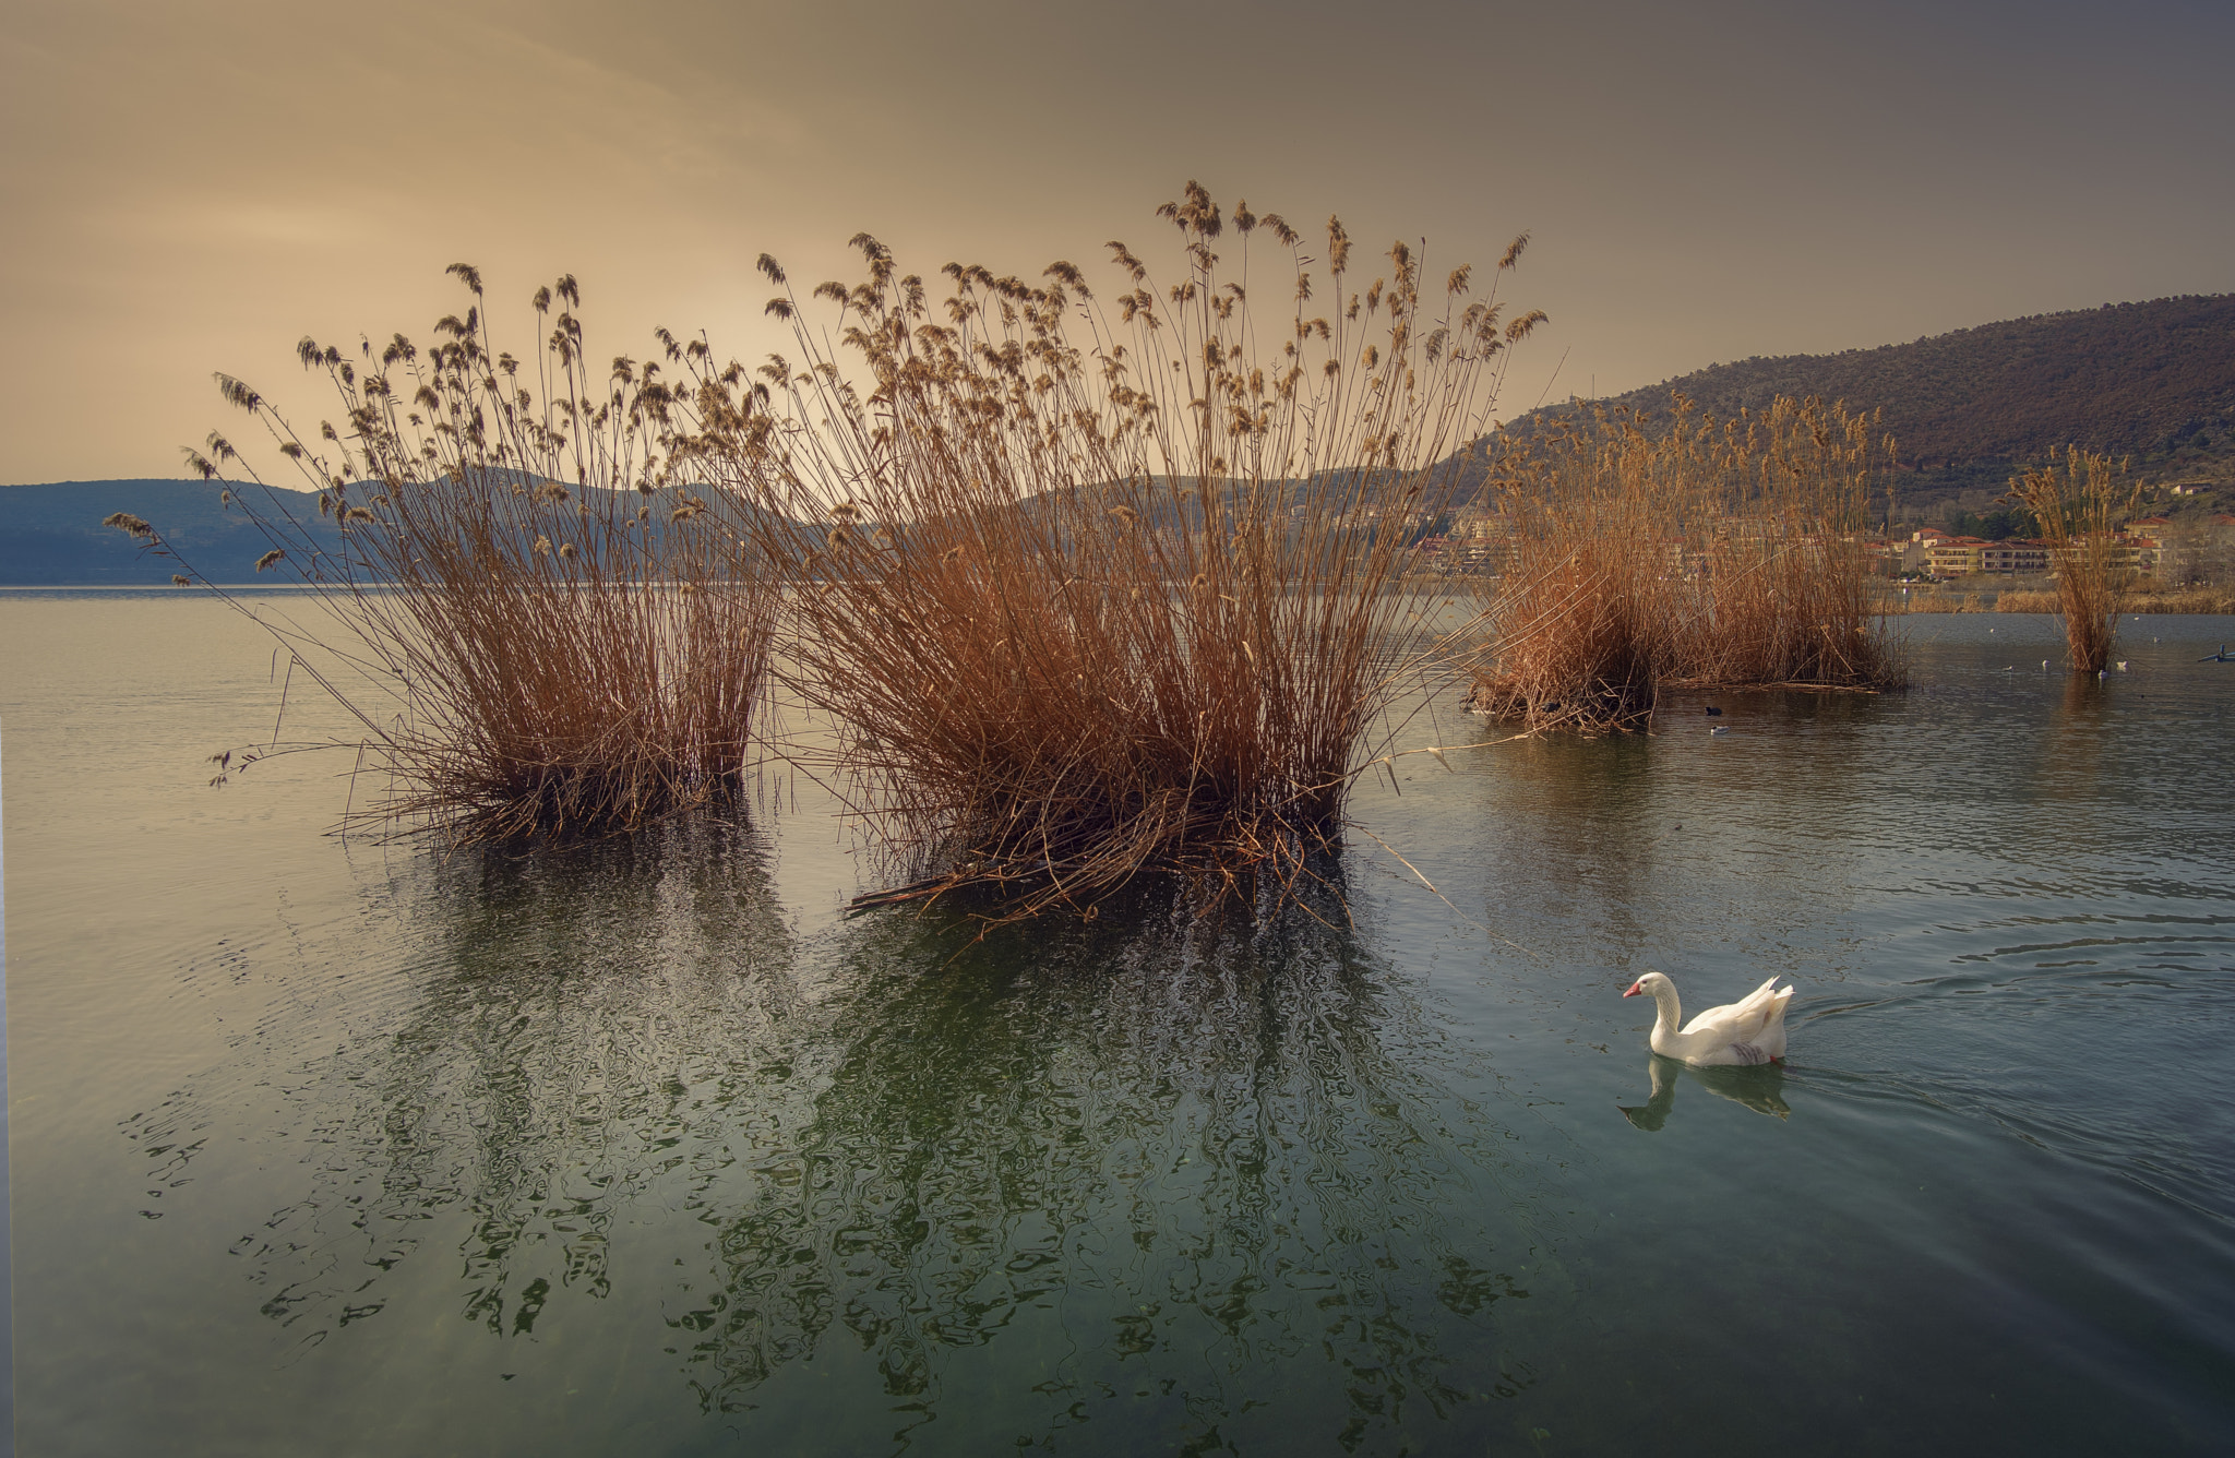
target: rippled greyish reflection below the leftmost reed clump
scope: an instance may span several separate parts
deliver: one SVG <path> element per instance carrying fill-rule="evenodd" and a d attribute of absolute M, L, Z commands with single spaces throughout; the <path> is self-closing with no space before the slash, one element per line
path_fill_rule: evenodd
<path fill-rule="evenodd" d="M 429 1243 L 492 1333 L 606 1297 L 621 1212 L 693 1178 L 708 1134 L 782 1118 L 758 1089 L 789 1078 L 805 993 L 749 827 L 463 856 L 418 901 L 402 1017 L 295 1080 L 313 1187 L 232 1248 L 306 1344 L 378 1315 Z"/>

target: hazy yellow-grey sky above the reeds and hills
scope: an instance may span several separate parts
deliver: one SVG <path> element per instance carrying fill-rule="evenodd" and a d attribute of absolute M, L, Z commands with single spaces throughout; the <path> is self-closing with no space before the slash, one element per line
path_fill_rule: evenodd
<path fill-rule="evenodd" d="M 1106 282 L 1189 177 L 1430 268 L 1535 242 L 1506 394 L 2235 291 L 2235 4 L 49 2 L 0 9 L 0 483 L 177 476 L 210 371 L 583 284 L 778 340 L 869 230 Z M 1558 380 L 1549 380 L 1562 360 Z"/>

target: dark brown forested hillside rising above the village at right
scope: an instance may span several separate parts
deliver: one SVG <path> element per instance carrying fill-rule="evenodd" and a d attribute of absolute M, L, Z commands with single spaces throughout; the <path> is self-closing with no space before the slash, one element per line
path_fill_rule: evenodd
<path fill-rule="evenodd" d="M 1958 329 L 1913 344 L 1752 358 L 1605 400 L 1714 416 L 1775 396 L 1884 409 L 1906 503 L 2000 487 L 2065 445 L 2132 456 L 2143 481 L 2235 479 L 2235 293 L 2103 304 Z"/>

